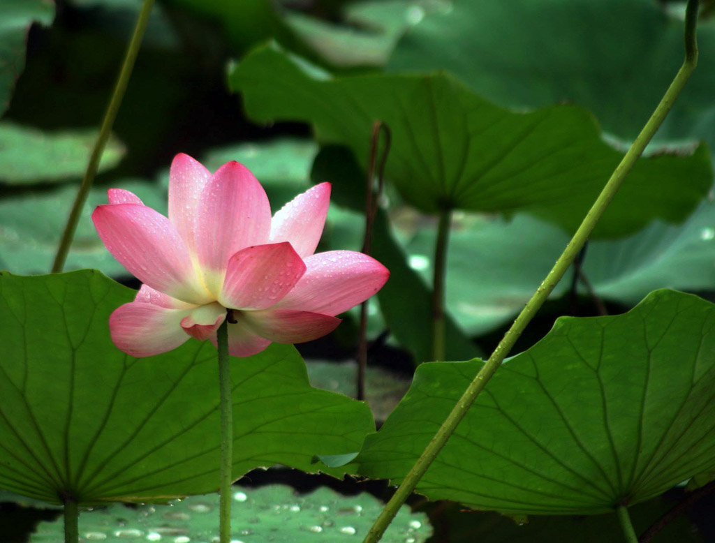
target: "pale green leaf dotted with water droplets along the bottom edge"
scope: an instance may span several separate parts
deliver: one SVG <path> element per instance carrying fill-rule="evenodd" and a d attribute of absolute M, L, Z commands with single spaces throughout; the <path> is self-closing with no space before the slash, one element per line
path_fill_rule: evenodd
<path fill-rule="evenodd" d="M 383 504 L 370 494 L 341 496 L 325 487 L 299 495 L 280 484 L 255 489 L 233 487 L 232 541 L 304 543 L 363 537 Z M 218 494 L 193 496 L 169 505 L 129 509 L 112 504 L 79 515 L 79 535 L 102 541 L 218 541 Z M 406 509 L 395 517 L 384 542 L 424 542 L 432 530 L 424 513 Z M 61 541 L 64 522 L 42 522 L 31 543 Z"/>

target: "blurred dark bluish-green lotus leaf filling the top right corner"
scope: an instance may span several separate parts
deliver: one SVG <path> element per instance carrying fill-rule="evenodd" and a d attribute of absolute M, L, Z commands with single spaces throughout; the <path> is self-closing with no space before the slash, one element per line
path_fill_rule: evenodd
<path fill-rule="evenodd" d="M 698 45 L 698 69 L 658 137 L 706 137 L 715 148 L 713 19 L 699 24 Z M 388 69 L 447 69 L 504 106 L 572 101 L 632 139 L 683 56 L 682 18 L 652 0 L 458 0 L 410 29 Z"/>

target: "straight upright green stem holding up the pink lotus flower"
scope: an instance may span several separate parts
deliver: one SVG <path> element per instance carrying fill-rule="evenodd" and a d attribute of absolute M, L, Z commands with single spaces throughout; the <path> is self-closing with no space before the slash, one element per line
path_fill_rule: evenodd
<path fill-rule="evenodd" d="M 217 332 L 219 349 L 219 387 L 221 404 L 221 469 L 219 477 L 219 537 L 220 543 L 231 541 L 231 483 L 233 467 L 233 402 L 231 364 L 228 357 L 228 323 L 231 314 Z"/>

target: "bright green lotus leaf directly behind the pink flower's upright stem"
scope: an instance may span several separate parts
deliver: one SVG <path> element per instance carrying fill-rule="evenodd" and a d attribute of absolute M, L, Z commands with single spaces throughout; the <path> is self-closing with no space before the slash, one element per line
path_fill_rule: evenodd
<path fill-rule="evenodd" d="M 139 501 L 217 488 L 217 352 L 189 340 L 146 359 L 109 339 L 134 291 L 99 271 L 0 274 L 0 487 L 56 503 Z M 290 345 L 232 359 L 235 477 L 360 447 L 361 402 L 310 387 Z M 340 473 L 340 472 L 337 472 Z"/>

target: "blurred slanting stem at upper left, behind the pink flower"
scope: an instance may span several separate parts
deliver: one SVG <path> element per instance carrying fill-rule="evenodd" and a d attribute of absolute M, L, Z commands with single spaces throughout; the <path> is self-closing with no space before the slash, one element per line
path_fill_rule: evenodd
<path fill-rule="evenodd" d="M 114 119 L 117 118 L 119 106 L 122 104 L 122 98 L 124 98 L 124 91 L 127 90 L 129 76 L 132 75 L 134 61 L 137 59 L 137 54 L 139 53 L 139 46 L 142 45 L 142 37 L 144 36 L 144 31 L 147 29 L 147 22 L 149 21 L 149 14 L 152 11 L 153 4 L 154 0 L 144 0 L 144 4 L 142 4 L 142 10 L 139 11 L 137 25 L 134 26 L 134 34 L 132 35 L 132 41 L 129 41 L 127 55 L 124 56 L 124 64 L 122 64 L 122 70 L 119 71 L 119 78 L 117 79 L 117 84 L 114 86 L 114 93 L 112 94 L 112 99 L 109 100 L 107 111 L 104 114 L 102 128 L 99 130 L 99 136 L 97 136 L 97 141 L 94 141 L 94 148 L 92 149 L 92 154 L 89 156 L 87 171 L 84 172 L 84 178 L 82 179 L 82 184 L 79 186 L 77 198 L 74 199 L 74 204 L 72 204 L 72 209 L 69 212 L 67 224 L 64 226 L 64 232 L 62 234 L 62 239 L 59 243 L 59 247 L 57 248 L 57 254 L 54 256 L 54 263 L 52 264 L 53 274 L 59 273 L 64 268 L 64 261 L 66 261 L 67 259 L 69 247 L 72 244 L 72 239 L 74 239 L 74 232 L 77 231 L 77 223 L 79 222 L 79 216 L 80 214 L 82 214 L 84 202 L 87 201 L 89 189 L 92 188 L 92 181 L 94 181 L 94 176 L 97 175 L 97 169 L 99 168 L 99 159 L 102 158 L 104 146 L 107 145 L 107 139 L 109 139 L 109 134 L 112 131 L 112 125 L 114 125 Z"/>

